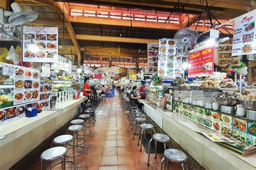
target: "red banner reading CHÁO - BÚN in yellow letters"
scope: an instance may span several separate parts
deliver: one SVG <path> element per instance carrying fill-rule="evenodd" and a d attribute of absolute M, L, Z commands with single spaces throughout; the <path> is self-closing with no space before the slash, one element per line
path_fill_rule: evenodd
<path fill-rule="evenodd" d="M 188 78 L 212 76 L 214 71 L 214 46 L 188 55 Z"/>

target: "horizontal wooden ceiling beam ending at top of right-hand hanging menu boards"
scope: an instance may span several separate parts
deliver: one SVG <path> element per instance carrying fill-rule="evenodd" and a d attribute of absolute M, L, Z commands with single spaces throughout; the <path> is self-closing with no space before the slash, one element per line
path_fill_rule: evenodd
<path fill-rule="evenodd" d="M 158 42 L 158 39 L 150 39 L 150 38 L 113 37 L 113 36 L 98 36 L 98 35 L 85 35 L 85 34 L 77 34 L 76 39 L 96 40 L 96 41 L 103 41 L 103 42 L 139 43 L 139 44 L 146 44 L 149 42 Z"/>

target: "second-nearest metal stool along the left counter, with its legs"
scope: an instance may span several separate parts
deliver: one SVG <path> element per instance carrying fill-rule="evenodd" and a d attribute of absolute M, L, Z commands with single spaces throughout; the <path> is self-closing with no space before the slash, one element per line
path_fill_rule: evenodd
<path fill-rule="evenodd" d="M 72 135 L 70 134 L 64 134 L 64 135 L 60 135 L 56 138 L 54 138 L 51 142 L 51 147 L 52 147 L 52 144 L 55 144 L 55 145 L 62 145 L 63 147 L 66 148 L 66 144 L 69 144 L 69 142 L 71 142 L 73 140 L 73 155 L 75 155 L 75 138 L 73 138 Z M 67 149 L 68 150 L 68 149 Z M 73 157 L 72 156 L 69 156 L 69 155 L 66 155 L 66 157 Z M 75 157 L 73 157 L 73 160 L 66 160 L 66 162 L 72 162 L 75 167 L 73 167 L 73 169 L 76 169 L 76 162 L 75 162 Z M 57 164 L 60 164 L 61 162 L 57 162 L 55 165 Z M 55 166 L 53 165 L 53 166 Z"/>

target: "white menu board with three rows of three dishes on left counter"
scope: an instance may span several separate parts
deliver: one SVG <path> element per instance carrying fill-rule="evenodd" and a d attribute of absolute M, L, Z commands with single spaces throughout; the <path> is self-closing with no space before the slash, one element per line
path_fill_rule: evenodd
<path fill-rule="evenodd" d="M 39 98 L 39 70 L 15 67 L 14 105 L 29 103 Z"/>

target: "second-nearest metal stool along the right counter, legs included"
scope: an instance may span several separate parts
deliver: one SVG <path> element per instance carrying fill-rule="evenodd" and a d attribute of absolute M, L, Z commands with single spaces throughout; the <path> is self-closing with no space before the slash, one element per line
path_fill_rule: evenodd
<path fill-rule="evenodd" d="M 152 142 L 152 140 L 154 139 L 154 150 L 155 150 L 155 155 L 154 155 L 154 159 L 157 159 L 157 142 L 161 142 L 164 143 L 164 149 L 166 150 L 166 142 L 168 142 L 170 140 L 170 137 L 166 134 L 163 133 L 155 133 L 152 136 L 152 139 L 150 139 L 149 142 L 149 154 L 147 157 L 147 166 L 149 166 L 149 159 L 150 159 L 150 144 Z"/>

